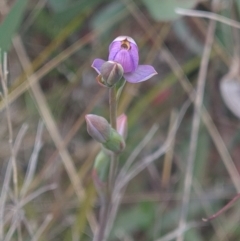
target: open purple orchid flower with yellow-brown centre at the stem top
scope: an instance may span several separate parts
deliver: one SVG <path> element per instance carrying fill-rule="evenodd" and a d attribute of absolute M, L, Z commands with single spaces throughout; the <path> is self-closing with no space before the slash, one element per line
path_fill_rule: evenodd
<path fill-rule="evenodd" d="M 113 40 L 109 46 L 108 61 L 114 61 L 122 65 L 123 77 L 130 83 L 139 83 L 156 75 L 156 70 L 151 65 L 138 65 L 138 46 L 128 36 L 120 36 Z M 101 67 L 106 61 L 95 59 L 92 67 L 101 75 Z"/>

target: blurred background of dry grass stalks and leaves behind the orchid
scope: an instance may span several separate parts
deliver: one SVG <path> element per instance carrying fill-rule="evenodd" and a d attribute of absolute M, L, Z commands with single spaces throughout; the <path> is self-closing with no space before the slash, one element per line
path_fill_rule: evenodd
<path fill-rule="evenodd" d="M 91 172 L 100 147 L 84 116 L 108 118 L 109 110 L 91 64 L 107 59 L 121 35 L 137 42 L 140 64 L 158 75 L 123 90 L 118 114 L 128 116 L 128 138 L 119 166 L 133 151 L 135 164 L 149 158 L 179 126 L 167 150 L 129 180 L 108 240 L 240 240 L 240 201 L 202 222 L 240 192 L 239 0 L 1 0 L 0 20 L 9 72 L 1 75 L 0 240 L 92 240 L 100 203 Z M 204 107 L 188 170 L 194 105 L 182 108 L 201 72 Z M 192 189 L 181 229 L 186 175 Z"/>

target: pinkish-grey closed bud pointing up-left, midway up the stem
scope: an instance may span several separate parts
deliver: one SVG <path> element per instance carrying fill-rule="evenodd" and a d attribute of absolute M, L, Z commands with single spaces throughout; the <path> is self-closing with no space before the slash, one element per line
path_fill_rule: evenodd
<path fill-rule="evenodd" d="M 100 143 L 105 143 L 111 136 L 111 126 L 107 120 L 98 115 L 86 115 L 88 134 Z"/>

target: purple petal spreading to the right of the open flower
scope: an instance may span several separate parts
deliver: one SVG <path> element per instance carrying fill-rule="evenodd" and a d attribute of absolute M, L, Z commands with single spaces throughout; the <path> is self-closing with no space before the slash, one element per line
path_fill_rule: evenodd
<path fill-rule="evenodd" d="M 135 72 L 126 73 L 123 76 L 125 77 L 126 81 L 130 83 L 139 83 L 150 79 L 156 74 L 156 70 L 151 65 L 139 65 Z"/>

